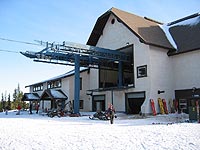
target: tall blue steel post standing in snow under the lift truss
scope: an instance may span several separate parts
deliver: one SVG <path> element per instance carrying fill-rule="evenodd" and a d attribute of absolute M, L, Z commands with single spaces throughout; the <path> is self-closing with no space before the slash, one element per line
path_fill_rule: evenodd
<path fill-rule="evenodd" d="M 80 55 L 75 54 L 75 76 L 74 76 L 74 113 L 79 114 L 80 101 Z"/>

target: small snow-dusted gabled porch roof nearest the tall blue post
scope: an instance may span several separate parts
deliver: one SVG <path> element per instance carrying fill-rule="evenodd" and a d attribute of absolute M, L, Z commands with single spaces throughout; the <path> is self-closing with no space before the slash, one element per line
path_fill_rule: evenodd
<path fill-rule="evenodd" d="M 52 100 L 52 99 L 68 99 L 62 90 L 47 89 L 45 90 L 40 99 L 42 100 Z"/>

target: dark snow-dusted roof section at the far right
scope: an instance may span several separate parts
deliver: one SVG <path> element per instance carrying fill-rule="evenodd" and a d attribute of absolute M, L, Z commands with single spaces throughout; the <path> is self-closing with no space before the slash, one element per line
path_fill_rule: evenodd
<path fill-rule="evenodd" d="M 171 54 L 200 49 L 200 13 L 171 22 L 168 28 L 177 46 Z"/>

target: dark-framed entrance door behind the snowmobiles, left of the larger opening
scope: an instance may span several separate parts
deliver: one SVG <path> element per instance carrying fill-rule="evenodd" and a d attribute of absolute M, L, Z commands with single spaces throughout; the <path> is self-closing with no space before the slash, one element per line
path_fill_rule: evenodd
<path fill-rule="evenodd" d="M 92 111 L 105 111 L 105 95 L 93 96 Z"/>

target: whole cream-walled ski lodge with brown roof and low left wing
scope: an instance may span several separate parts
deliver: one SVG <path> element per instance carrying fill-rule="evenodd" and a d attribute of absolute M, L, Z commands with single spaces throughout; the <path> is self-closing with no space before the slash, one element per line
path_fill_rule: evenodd
<path fill-rule="evenodd" d="M 150 99 L 178 100 L 188 112 L 192 98 L 200 99 L 200 14 L 163 24 L 117 8 L 101 15 L 87 45 L 124 52 L 131 64 L 123 64 L 122 85 L 118 70 L 80 69 L 80 111 L 107 109 L 129 114 L 152 114 Z M 40 109 L 51 109 L 56 99 L 74 99 L 74 71 L 33 83 L 25 100 L 41 100 Z"/>

